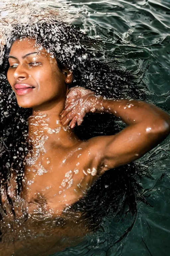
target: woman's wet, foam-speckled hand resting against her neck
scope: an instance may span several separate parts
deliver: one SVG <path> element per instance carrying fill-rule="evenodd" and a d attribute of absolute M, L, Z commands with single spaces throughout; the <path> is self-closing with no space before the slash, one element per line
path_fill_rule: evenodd
<path fill-rule="evenodd" d="M 83 87 L 73 87 L 67 94 L 65 108 L 61 112 L 61 123 L 67 125 L 70 121 L 70 127 L 74 128 L 77 122 L 81 125 L 83 117 L 88 112 L 95 112 L 102 108 L 102 101 L 91 90 Z"/>

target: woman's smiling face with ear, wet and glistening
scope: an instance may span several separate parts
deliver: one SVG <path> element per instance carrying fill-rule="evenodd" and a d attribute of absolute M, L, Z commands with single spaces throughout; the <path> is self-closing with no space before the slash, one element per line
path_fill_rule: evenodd
<path fill-rule="evenodd" d="M 65 99 L 65 83 L 71 83 L 71 72 L 61 72 L 56 59 L 37 46 L 34 39 L 13 43 L 9 65 L 7 79 L 19 106 L 41 110 Z"/>

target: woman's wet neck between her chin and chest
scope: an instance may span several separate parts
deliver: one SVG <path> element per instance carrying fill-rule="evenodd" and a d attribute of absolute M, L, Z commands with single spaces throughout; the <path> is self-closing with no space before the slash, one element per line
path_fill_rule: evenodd
<path fill-rule="evenodd" d="M 66 146 L 78 142 L 78 138 L 69 126 L 60 122 L 60 113 L 64 108 L 61 102 L 51 108 L 33 109 L 28 118 L 29 138 L 34 147 L 45 136 L 49 141 L 55 140 L 58 146 Z"/>

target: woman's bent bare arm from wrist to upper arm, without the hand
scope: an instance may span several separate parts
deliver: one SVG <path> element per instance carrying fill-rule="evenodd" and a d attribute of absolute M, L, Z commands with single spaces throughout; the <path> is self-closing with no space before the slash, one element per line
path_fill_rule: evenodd
<path fill-rule="evenodd" d="M 128 125 L 116 135 L 105 138 L 102 162 L 109 169 L 140 158 L 170 133 L 170 116 L 152 104 L 104 100 L 102 105 L 105 112 L 120 117 Z"/>

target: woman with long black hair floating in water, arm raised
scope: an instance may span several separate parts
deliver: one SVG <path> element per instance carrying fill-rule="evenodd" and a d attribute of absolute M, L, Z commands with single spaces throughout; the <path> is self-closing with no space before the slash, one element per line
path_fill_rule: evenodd
<path fill-rule="evenodd" d="M 154 105 L 129 99 L 137 95 L 128 82 L 129 75 L 94 60 L 93 52 L 87 50 L 89 38 L 55 17 L 31 24 L 14 23 L 9 38 L 1 53 L 1 93 L 6 97 L 6 101 L 3 97 L 1 100 L 2 241 L 14 237 L 15 249 L 9 255 L 29 255 L 27 245 L 24 242 L 22 246 L 18 238 L 18 223 L 24 230 L 23 239 L 35 234 L 37 226 L 36 234 L 41 233 L 45 221 L 50 223 L 49 230 L 44 231 L 45 241 L 50 235 L 52 250 L 44 252 L 48 255 L 56 250 L 58 230 L 63 237 L 83 236 L 95 229 L 111 210 L 115 216 L 124 212 L 127 205 L 129 211 L 136 211 L 135 191 L 139 188 L 134 186 L 134 168 L 125 165 L 166 138 L 170 117 Z M 95 42 L 90 44 L 94 46 Z M 128 99 L 119 99 L 123 93 Z M 73 129 L 90 112 L 100 116 L 107 113 L 108 120 L 111 116 L 108 124 L 113 124 L 113 116 L 121 118 L 127 127 L 116 135 L 112 127 L 109 136 L 94 137 L 95 131 L 93 135 L 90 131 L 89 137 L 93 138 L 81 140 Z M 76 133 L 85 139 L 88 132 Z M 97 211 L 90 195 L 97 195 L 94 191 L 103 187 L 102 193 L 107 193 L 105 181 L 110 177 L 110 169 L 115 169 L 112 202 L 108 205 L 106 198 L 95 198 L 106 212 L 100 212 L 94 225 Z M 7 239 L 3 229 L 8 221 L 15 232 L 9 236 L 8 231 Z M 80 227 L 78 230 L 75 223 Z M 42 238 L 37 240 L 42 244 Z M 64 246 L 61 244 L 60 250 Z M 30 253 L 39 255 L 34 250 Z"/>

